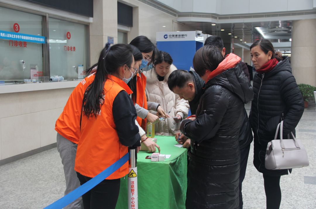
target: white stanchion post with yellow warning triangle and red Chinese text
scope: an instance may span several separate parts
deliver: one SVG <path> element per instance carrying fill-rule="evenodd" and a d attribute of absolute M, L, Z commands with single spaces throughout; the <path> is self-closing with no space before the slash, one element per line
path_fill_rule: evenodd
<path fill-rule="evenodd" d="M 137 150 L 136 146 L 129 147 L 129 173 L 128 173 L 128 208 L 138 209 L 137 190 Z"/>

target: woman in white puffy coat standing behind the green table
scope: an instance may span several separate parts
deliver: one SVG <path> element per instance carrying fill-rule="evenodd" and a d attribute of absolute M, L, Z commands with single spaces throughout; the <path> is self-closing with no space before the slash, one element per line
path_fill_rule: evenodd
<path fill-rule="evenodd" d="M 161 105 L 170 118 L 159 120 L 155 124 L 155 134 L 174 136 L 180 128 L 180 121 L 188 115 L 189 103 L 180 99 L 178 94 L 173 93 L 168 87 L 169 75 L 177 68 L 172 64 L 171 56 L 160 51 L 154 68 L 144 72 L 147 77 L 146 95 L 147 100 Z M 155 114 L 155 112 L 152 112 Z"/>

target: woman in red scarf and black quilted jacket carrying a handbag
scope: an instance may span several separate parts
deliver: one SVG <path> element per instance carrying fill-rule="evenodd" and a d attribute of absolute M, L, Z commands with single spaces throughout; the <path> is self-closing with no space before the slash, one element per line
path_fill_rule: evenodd
<path fill-rule="evenodd" d="M 254 99 L 249 116 L 254 133 L 253 164 L 263 173 L 267 209 L 274 209 L 281 203 L 280 176 L 288 174 L 288 170 L 265 168 L 267 144 L 274 139 L 276 126 L 281 120 L 283 136 L 291 131 L 295 133 L 304 102 L 288 58 L 283 60 L 281 53 L 276 53 L 267 39 L 256 41 L 250 50 L 257 71 L 253 78 Z"/>

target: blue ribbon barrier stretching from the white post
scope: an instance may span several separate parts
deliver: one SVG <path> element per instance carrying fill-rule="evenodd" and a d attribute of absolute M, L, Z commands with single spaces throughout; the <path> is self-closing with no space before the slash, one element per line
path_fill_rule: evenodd
<path fill-rule="evenodd" d="M 44 209 L 59 209 L 59 208 L 62 209 L 63 207 L 69 205 L 70 203 L 78 199 L 80 196 L 82 196 L 83 194 L 85 194 L 86 192 L 94 188 L 96 185 L 98 185 L 100 182 L 102 182 L 112 173 L 114 173 L 114 171 L 122 167 L 122 165 L 124 165 L 128 161 L 128 159 L 129 159 L 129 152 L 127 152 L 122 158 L 120 158 L 118 161 L 116 161 L 115 163 L 110 165 L 108 168 L 103 170 L 97 176 L 90 179 L 88 182 L 82 184 L 80 187 L 71 191 L 69 194 L 60 198 L 56 202 L 45 207 Z"/>

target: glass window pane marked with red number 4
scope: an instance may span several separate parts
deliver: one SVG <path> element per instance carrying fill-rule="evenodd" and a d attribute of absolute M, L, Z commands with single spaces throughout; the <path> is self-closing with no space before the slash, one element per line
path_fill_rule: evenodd
<path fill-rule="evenodd" d="M 65 80 L 83 78 L 82 70 L 88 68 L 87 27 L 49 18 L 48 28 L 51 76 L 63 76 Z"/>

